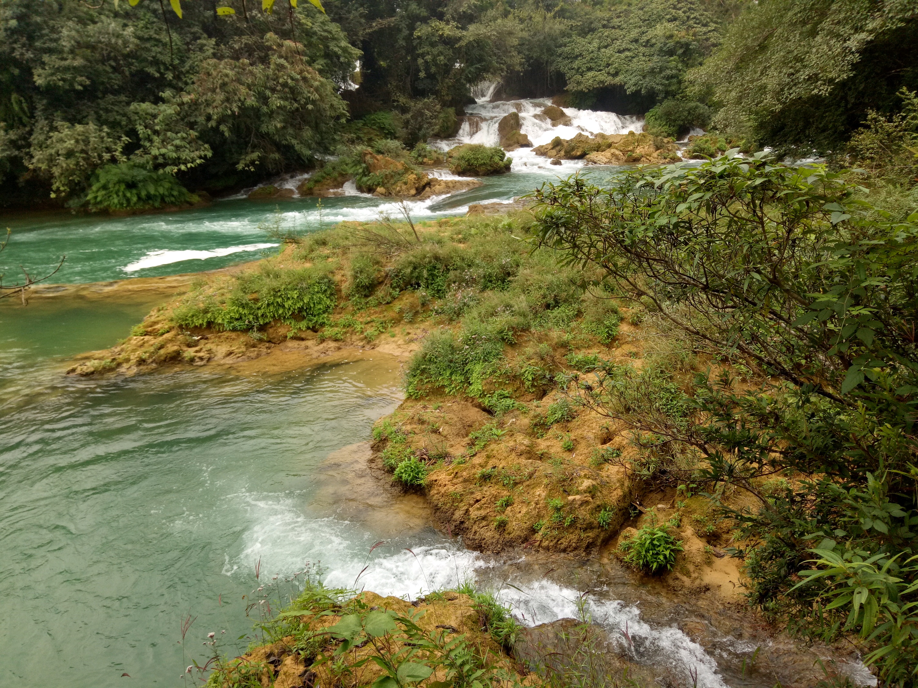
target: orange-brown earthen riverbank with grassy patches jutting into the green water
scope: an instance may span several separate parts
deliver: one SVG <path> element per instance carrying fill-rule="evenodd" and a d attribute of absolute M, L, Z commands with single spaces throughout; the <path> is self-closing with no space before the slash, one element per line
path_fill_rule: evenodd
<path fill-rule="evenodd" d="M 561 383 L 623 375 L 684 413 L 679 400 L 691 376 L 724 363 L 691 350 L 645 305 L 585 289 L 588 274 L 532 250 L 531 222 L 521 211 L 413 229 L 349 223 L 310 235 L 275 258 L 203 276 L 72 373 L 262 374 L 392 357 L 408 398 L 376 423 L 364 465 L 422 499 L 442 533 L 505 558 L 574 557 L 630 571 L 622 543 L 663 527 L 678 543 L 672 570 L 630 571 L 633 584 L 692 609 L 733 610 L 745 619 L 735 627 L 767 628 L 762 638 L 782 648 L 775 658 L 800 665 L 816 650 L 778 641 L 778 630 L 745 606 L 741 561 L 728 554 L 742 542 L 711 499 L 685 475 L 660 472 L 671 458 L 579 404 Z M 266 314 L 285 303 L 277 294 L 296 309 Z M 227 329 L 232 318 L 246 328 Z M 732 491 L 715 496 L 737 510 L 751 506 Z M 846 654 L 838 647 L 816 656 Z M 799 666 L 795 673 L 806 678 L 782 684 L 819 678 Z"/>

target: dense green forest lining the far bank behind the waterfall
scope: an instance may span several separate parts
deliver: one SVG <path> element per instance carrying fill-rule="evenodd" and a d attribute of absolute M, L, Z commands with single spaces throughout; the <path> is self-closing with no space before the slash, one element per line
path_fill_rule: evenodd
<path fill-rule="evenodd" d="M 845 153 L 918 87 L 899 0 L 73 0 L 0 6 L 3 205 L 179 204 L 374 139 L 450 136 L 500 97 L 674 136 Z"/>

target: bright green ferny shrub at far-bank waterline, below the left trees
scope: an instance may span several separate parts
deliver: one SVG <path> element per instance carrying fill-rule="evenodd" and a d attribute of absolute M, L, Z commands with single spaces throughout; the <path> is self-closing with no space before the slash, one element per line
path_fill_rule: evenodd
<path fill-rule="evenodd" d="M 172 174 L 153 172 L 131 162 L 103 167 L 93 176 L 86 194 L 86 203 L 93 210 L 159 208 L 196 199 Z"/>

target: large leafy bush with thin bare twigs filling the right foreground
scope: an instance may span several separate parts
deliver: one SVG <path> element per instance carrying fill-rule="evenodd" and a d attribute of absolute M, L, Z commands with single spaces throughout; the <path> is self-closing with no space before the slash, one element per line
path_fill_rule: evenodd
<path fill-rule="evenodd" d="M 736 553 L 752 602 L 826 640 L 861 631 L 880 677 L 910 685 L 918 213 L 899 221 L 823 166 L 735 153 L 631 172 L 614 189 L 547 185 L 536 194 L 539 236 L 696 346 L 752 366 L 760 383 L 740 391 L 729 365 L 702 373 L 691 396 L 677 391 L 690 413 L 659 407 L 648 375 L 567 383 L 650 444 L 694 454 L 691 477 L 712 494 L 729 483 L 756 499 L 756 512 L 724 512 L 749 543 Z M 793 484 L 767 493 L 762 481 L 775 475 Z M 789 575 L 807 570 L 809 583 L 792 586 Z"/>

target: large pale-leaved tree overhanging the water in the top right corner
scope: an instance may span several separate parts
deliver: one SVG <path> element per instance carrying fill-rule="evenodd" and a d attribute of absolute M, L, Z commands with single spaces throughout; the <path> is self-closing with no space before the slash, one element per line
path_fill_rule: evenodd
<path fill-rule="evenodd" d="M 721 110 L 714 125 L 770 145 L 837 149 L 868 108 L 918 88 L 918 9 L 881 0 L 760 0 L 691 75 Z"/>

